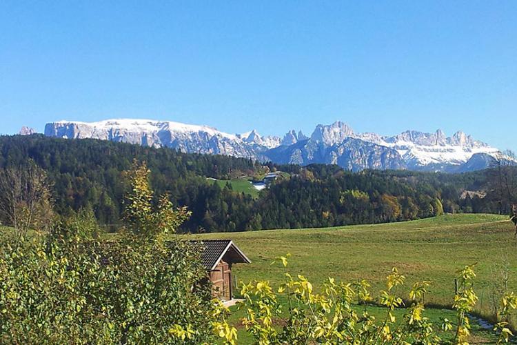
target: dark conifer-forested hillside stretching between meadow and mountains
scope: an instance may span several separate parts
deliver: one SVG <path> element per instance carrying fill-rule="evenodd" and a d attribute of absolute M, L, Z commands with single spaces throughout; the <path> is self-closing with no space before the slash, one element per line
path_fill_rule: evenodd
<path fill-rule="evenodd" d="M 94 139 L 66 140 L 30 136 L 0 137 L 0 168 L 34 161 L 50 177 L 55 209 L 92 208 L 101 224 L 120 224 L 123 172 L 133 159 L 146 161 L 157 193 L 187 206 L 192 217 L 183 230 L 237 231 L 378 223 L 431 217 L 445 212 L 495 212 L 493 198 L 467 194 L 483 190 L 484 172 L 447 175 L 365 170 L 337 166 L 262 166 L 250 159 L 196 155 Z M 287 177 L 254 198 L 207 179 L 260 176 L 281 170 Z M 463 193 L 465 195 L 465 193 Z"/>

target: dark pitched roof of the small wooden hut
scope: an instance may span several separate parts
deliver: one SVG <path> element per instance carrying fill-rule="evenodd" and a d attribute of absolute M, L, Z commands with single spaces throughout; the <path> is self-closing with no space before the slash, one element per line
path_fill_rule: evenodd
<path fill-rule="evenodd" d="M 251 261 L 244 253 L 232 242 L 231 239 L 206 239 L 196 241 L 201 244 L 201 261 L 207 270 L 213 270 L 223 259 L 234 263 L 250 264 Z"/>

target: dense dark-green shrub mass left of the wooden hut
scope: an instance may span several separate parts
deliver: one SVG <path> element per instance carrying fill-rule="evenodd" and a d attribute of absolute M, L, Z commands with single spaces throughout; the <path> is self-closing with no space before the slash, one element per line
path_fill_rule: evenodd
<path fill-rule="evenodd" d="M 145 166 L 131 181 L 128 226 L 112 241 L 95 238 L 88 211 L 30 239 L 0 236 L 0 344 L 201 344 L 227 327 L 199 248 L 164 240 L 186 211 L 152 203 Z"/>

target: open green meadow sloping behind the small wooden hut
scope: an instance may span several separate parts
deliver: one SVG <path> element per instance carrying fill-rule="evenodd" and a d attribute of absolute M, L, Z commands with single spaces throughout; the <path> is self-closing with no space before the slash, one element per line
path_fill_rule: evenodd
<path fill-rule="evenodd" d="M 407 286 L 433 282 L 426 302 L 452 304 L 456 271 L 476 264 L 478 308 L 489 311 L 494 264 L 503 257 L 510 264 L 509 288 L 517 291 L 517 242 L 507 217 L 498 215 L 443 215 L 391 224 L 300 230 L 263 230 L 247 233 L 197 235 L 200 239 L 233 239 L 252 264 L 236 265 L 239 281 L 269 280 L 278 286 L 283 268 L 275 257 L 291 253 L 289 270 L 308 277 L 318 288 L 326 277 L 352 282 L 367 279 L 372 290 L 384 287 L 385 277 L 397 267 Z"/>

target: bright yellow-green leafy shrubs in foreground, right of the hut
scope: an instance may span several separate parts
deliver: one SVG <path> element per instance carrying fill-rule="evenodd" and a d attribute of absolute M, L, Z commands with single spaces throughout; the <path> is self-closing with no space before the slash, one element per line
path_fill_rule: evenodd
<path fill-rule="evenodd" d="M 287 266 L 287 257 L 278 258 Z M 430 282 L 416 282 L 406 302 L 398 295 L 405 277 L 394 268 L 387 276 L 386 288 L 377 299 L 372 298 L 369 284 L 361 280 L 354 284 L 337 283 L 329 278 L 320 293 L 303 275 L 285 273 L 285 282 L 274 290 L 269 282 L 243 284 L 245 301 L 242 320 L 257 344 L 468 344 L 470 324 L 467 313 L 476 305 L 472 287 L 473 266 L 458 272 L 458 291 L 454 297 L 456 322 L 443 319 L 432 324 L 425 317 L 424 297 Z M 280 300 L 287 300 L 284 306 Z M 376 319 L 367 311 L 359 313 L 354 304 L 376 303 L 385 307 L 385 317 Z M 517 297 L 506 295 L 501 301 L 505 317 L 494 331 L 499 332 L 498 344 L 508 342 L 512 335 L 507 318 L 517 307 Z M 394 310 L 405 307 L 402 319 Z M 450 333 L 452 340 L 441 339 L 439 333 Z"/>

